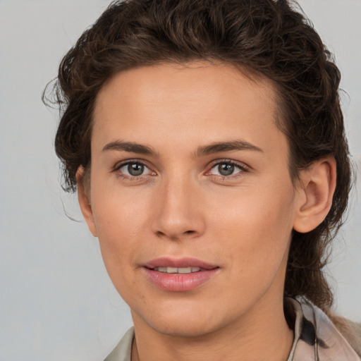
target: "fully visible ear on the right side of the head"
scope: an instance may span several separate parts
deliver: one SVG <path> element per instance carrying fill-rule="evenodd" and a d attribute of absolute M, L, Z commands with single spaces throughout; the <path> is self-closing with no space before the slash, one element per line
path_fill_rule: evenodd
<path fill-rule="evenodd" d="M 307 233 L 324 221 L 336 188 L 336 160 L 327 157 L 314 161 L 300 172 L 298 206 L 293 229 Z"/>

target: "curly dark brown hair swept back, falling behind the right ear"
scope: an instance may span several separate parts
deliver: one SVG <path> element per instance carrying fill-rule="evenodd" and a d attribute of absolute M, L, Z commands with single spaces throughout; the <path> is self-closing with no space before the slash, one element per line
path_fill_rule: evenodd
<path fill-rule="evenodd" d="M 334 200 L 309 233 L 293 233 L 285 293 L 305 295 L 323 310 L 333 296 L 322 271 L 327 247 L 343 222 L 351 187 L 340 72 L 300 8 L 286 0 L 115 1 L 61 61 L 54 100 L 62 115 L 56 154 L 64 188 L 76 190 L 79 166 L 90 169 L 94 100 L 119 71 L 156 63 L 221 61 L 271 79 L 279 92 L 277 124 L 288 137 L 290 176 L 333 156 Z"/>

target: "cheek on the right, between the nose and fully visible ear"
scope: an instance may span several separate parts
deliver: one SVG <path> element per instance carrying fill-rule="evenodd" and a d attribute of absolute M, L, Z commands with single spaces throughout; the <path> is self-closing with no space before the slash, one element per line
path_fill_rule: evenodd
<path fill-rule="evenodd" d="M 217 238 L 223 239 L 222 252 L 228 252 L 233 264 L 256 273 L 279 267 L 293 229 L 292 185 L 247 188 L 228 199 L 228 206 L 213 217 Z"/>

